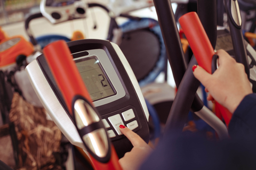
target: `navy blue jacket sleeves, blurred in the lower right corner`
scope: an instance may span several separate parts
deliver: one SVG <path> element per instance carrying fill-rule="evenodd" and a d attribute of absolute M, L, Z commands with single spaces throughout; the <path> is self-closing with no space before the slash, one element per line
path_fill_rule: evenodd
<path fill-rule="evenodd" d="M 228 140 L 209 141 L 169 132 L 140 169 L 256 169 L 256 94 L 239 104 L 229 134 Z"/>

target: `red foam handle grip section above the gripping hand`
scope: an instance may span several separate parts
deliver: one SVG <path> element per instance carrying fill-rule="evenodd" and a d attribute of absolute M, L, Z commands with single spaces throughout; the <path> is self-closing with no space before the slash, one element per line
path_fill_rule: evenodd
<path fill-rule="evenodd" d="M 196 57 L 198 65 L 212 73 L 212 56 L 215 54 L 211 42 L 196 12 L 189 12 L 179 19 L 188 43 Z"/>

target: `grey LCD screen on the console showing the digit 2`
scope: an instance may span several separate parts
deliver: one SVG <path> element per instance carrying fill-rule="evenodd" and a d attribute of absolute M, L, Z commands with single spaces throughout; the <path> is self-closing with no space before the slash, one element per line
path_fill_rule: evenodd
<path fill-rule="evenodd" d="M 115 90 L 96 56 L 75 60 L 77 69 L 93 101 L 115 95 Z"/>

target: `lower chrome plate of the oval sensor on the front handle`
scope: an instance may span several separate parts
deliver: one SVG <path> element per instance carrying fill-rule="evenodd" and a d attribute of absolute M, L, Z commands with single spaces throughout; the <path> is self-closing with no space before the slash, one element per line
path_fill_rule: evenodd
<path fill-rule="evenodd" d="M 103 158 L 108 153 L 108 138 L 104 128 L 97 129 L 83 136 L 85 145 L 98 157 Z"/>

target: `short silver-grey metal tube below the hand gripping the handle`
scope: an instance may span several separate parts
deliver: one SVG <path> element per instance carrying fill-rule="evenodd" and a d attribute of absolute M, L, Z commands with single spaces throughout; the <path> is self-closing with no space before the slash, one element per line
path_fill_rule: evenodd
<path fill-rule="evenodd" d="M 220 139 L 228 139 L 226 125 L 209 108 L 204 106 L 200 111 L 195 112 L 195 114 L 209 124 L 217 132 Z"/>

